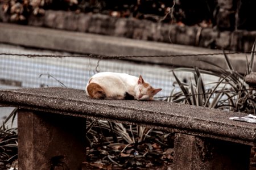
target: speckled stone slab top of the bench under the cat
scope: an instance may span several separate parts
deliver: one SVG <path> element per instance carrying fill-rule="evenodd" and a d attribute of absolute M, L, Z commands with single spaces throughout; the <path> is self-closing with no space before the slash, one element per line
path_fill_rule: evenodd
<path fill-rule="evenodd" d="M 229 120 L 245 116 L 166 101 L 97 100 L 71 88 L 0 90 L 0 105 L 71 116 L 113 120 L 254 145 L 256 124 Z"/>

